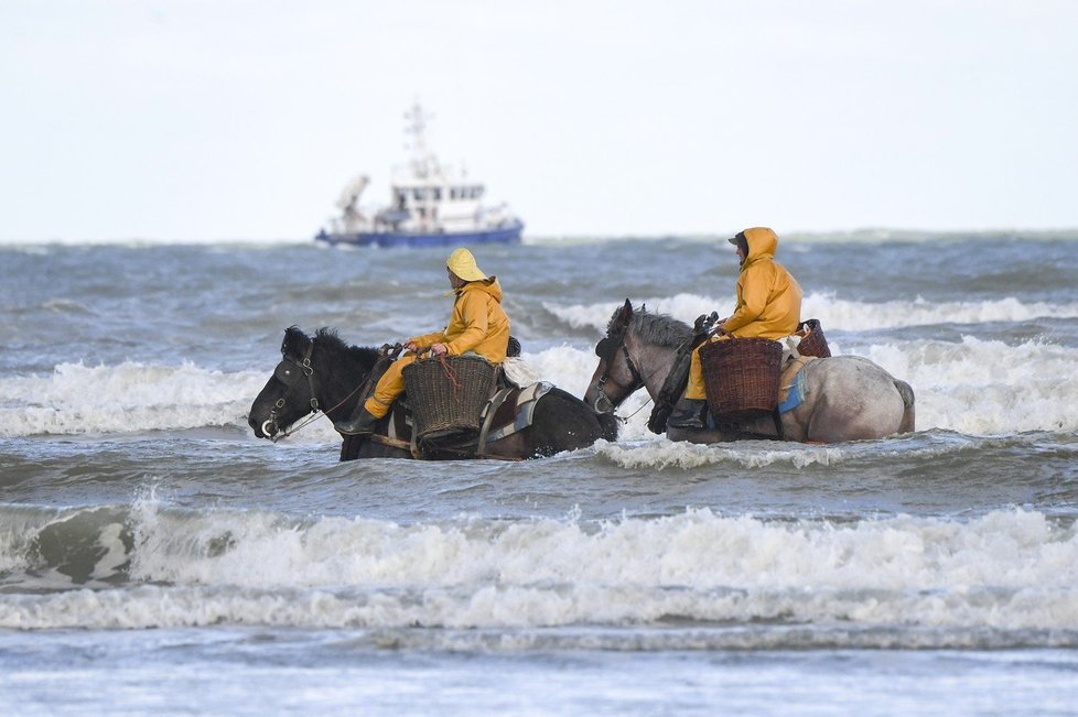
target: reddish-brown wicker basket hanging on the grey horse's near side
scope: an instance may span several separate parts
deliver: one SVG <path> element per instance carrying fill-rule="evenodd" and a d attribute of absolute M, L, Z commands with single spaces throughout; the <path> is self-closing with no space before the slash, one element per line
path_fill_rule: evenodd
<path fill-rule="evenodd" d="M 778 405 L 783 345 L 769 338 L 730 338 L 700 347 L 708 408 L 719 423 L 750 421 Z"/>

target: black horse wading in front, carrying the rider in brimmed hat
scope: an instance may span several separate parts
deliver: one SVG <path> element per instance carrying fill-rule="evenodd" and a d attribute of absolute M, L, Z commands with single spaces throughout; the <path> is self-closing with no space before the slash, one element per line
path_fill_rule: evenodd
<path fill-rule="evenodd" d="M 313 337 L 295 326 L 284 330 L 282 360 L 251 404 L 247 423 L 259 438 L 272 438 L 308 414 L 323 411 L 331 421 L 352 416 L 379 352 L 348 346 L 328 328 Z M 411 458 L 406 441 L 389 437 L 390 413 L 371 437 L 343 436 L 341 460 Z M 614 441 L 617 420 L 599 413 L 576 396 L 553 388 L 535 404 L 531 425 L 486 444 L 483 457 L 522 459 L 551 456 L 590 446 L 599 438 Z M 465 448 L 424 455 L 425 458 L 474 457 Z"/>

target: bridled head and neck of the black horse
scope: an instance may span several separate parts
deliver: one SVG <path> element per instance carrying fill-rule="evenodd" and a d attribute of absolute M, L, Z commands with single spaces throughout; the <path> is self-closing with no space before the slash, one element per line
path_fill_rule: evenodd
<path fill-rule="evenodd" d="M 290 326 L 281 361 L 255 398 L 247 423 L 257 437 L 272 438 L 310 413 L 339 409 L 330 417 L 347 417 L 376 356 L 375 349 L 346 346 L 332 329 L 320 328 L 311 337 Z"/>

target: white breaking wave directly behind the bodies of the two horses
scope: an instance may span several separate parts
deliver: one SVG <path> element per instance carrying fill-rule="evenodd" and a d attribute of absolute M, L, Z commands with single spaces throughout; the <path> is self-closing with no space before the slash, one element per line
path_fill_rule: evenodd
<path fill-rule="evenodd" d="M 1078 383 L 1063 380 L 1078 362 L 1078 349 L 973 336 L 850 348 L 914 388 L 919 431 L 992 436 L 1078 430 Z M 584 394 L 599 365 L 592 350 L 568 345 L 526 352 L 524 358 L 543 380 L 576 396 Z M 50 374 L 0 379 L 0 437 L 206 426 L 247 431 L 247 412 L 268 378 L 265 370 L 223 372 L 193 363 L 61 363 Z M 618 409 L 626 419 L 619 439 L 654 439 L 647 430 L 649 414 L 647 392 L 637 391 Z M 331 444 L 337 439 L 328 421 L 317 421 L 290 438 Z M 671 460 L 694 458 L 682 455 Z"/>

